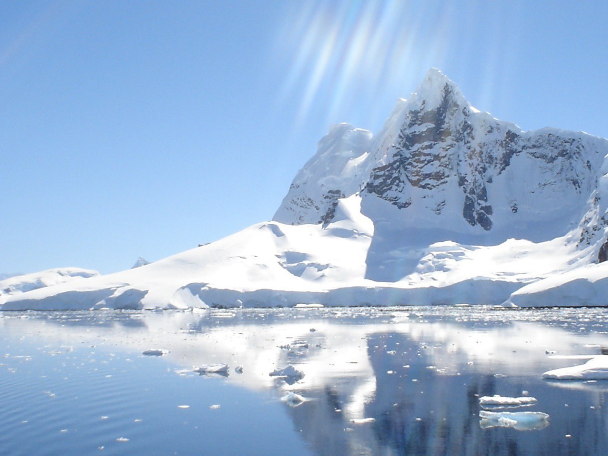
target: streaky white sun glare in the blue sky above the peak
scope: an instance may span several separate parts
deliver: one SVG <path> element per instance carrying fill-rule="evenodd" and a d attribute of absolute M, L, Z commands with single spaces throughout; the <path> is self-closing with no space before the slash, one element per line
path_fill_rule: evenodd
<path fill-rule="evenodd" d="M 280 102 L 298 100 L 297 123 L 302 125 L 317 104 L 332 122 L 351 107 L 353 94 L 371 100 L 407 95 L 403 91 L 427 67 L 443 60 L 449 24 L 442 18 L 449 10 L 446 5 L 421 9 L 402 0 L 299 5 L 279 40 L 291 61 Z M 369 122 L 385 115 L 370 112 Z"/>

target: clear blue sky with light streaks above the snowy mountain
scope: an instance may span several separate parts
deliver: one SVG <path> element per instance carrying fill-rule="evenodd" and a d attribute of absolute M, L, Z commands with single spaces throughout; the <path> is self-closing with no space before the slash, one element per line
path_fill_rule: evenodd
<path fill-rule="evenodd" d="M 0 2 L 0 272 L 108 273 L 270 219 L 331 123 L 429 67 L 608 137 L 608 2 Z"/>

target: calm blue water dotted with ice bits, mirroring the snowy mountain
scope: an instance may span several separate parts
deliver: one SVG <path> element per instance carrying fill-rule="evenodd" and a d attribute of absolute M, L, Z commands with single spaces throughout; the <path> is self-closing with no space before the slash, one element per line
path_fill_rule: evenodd
<path fill-rule="evenodd" d="M 0 454 L 608 454 L 608 382 L 541 379 L 604 346 L 608 309 L 0 313 Z M 480 420 L 522 392 L 548 425 Z"/>

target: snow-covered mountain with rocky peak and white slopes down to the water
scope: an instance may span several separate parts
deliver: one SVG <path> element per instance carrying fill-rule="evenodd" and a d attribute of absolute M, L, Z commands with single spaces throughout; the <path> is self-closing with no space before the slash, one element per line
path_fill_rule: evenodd
<path fill-rule="evenodd" d="M 593 264 L 608 256 L 607 153 L 606 139 L 494 119 L 431 69 L 378 134 L 333 126 L 273 221 L 4 309 L 584 305 L 572 280 L 608 305 Z"/>

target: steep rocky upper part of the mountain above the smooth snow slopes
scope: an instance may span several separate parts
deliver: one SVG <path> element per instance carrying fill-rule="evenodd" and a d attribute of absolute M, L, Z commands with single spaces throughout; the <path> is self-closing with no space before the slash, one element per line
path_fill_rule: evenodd
<path fill-rule="evenodd" d="M 360 192 L 372 220 L 384 201 L 382 219 L 397 226 L 550 239 L 581 221 L 607 152 L 584 133 L 494 119 L 431 69 L 376 136 L 335 126 L 274 219 L 326 224 L 337 199 Z"/>

